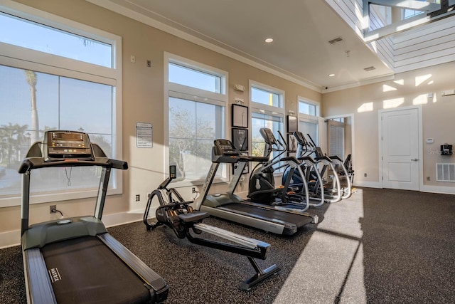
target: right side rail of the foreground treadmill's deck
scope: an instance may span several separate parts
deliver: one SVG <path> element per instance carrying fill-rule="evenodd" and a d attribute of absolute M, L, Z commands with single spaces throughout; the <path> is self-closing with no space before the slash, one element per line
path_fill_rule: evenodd
<path fill-rule="evenodd" d="M 169 286 L 158 273 L 152 271 L 146 263 L 141 261 L 141 259 L 135 256 L 134 253 L 129 251 L 110 234 L 100 234 L 98 235 L 98 238 L 117 254 L 117 256 L 121 258 L 134 273 L 142 278 L 147 285 L 149 285 L 151 288 L 151 299 L 155 303 L 161 303 L 166 300 Z"/>

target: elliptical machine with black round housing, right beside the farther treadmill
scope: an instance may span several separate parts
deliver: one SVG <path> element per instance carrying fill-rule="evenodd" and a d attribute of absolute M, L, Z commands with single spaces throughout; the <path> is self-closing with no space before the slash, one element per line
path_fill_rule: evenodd
<path fill-rule="evenodd" d="M 277 154 L 268 162 L 260 162 L 252 170 L 250 175 L 248 198 L 261 204 L 272 204 L 284 209 L 297 209 L 306 211 L 310 206 L 309 189 L 306 183 L 302 183 L 300 189 L 290 187 L 294 172 L 303 174 L 300 162 L 295 157 L 282 157 L 287 152 L 286 141 L 281 132 L 279 138 L 273 135 L 272 130 L 266 127 L 259 129 L 265 141 L 264 157 L 270 159 L 272 152 Z M 275 188 L 274 172 L 285 167 L 290 174 L 283 179 L 282 186 Z"/>

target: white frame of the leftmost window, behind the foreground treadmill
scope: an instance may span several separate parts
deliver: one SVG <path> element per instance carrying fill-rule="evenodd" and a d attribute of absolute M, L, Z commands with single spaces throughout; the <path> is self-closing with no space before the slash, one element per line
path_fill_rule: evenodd
<path fill-rule="evenodd" d="M 114 98 L 111 125 L 113 133 L 112 157 L 122 159 L 122 145 L 118 145 L 119 142 L 122 142 L 122 37 L 14 2 L 9 2 L 7 6 L 1 4 L 0 11 L 22 19 L 42 23 L 61 31 L 74 33 L 78 36 L 92 38 L 112 46 L 112 68 L 1 42 L 0 64 L 8 65 L 13 68 L 33 70 L 41 73 L 49 73 L 78 80 L 111 85 L 113 87 Z M 121 170 L 115 170 L 114 174 L 111 175 L 112 185 L 114 185 L 114 187 L 108 189 L 107 195 L 123 193 L 122 176 Z M 77 192 L 60 191 L 49 194 L 32 194 L 30 199 L 31 204 L 40 204 L 50 201 L 86 199 L 96 196 L 97 187 L 96 189 L 81 189 Z M 20 205 L 21 194 L 18 196 L 0 197 L 1 207 Z"/>

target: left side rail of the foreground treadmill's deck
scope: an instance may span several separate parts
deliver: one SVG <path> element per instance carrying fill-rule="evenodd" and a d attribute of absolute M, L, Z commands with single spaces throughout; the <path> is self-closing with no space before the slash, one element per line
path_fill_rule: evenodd
<path fill-rule="evenodd" d="M 22 251 L 22 255 L 23 268 L 26 273 L 27 303 L 57 304 L 40 249 L 31 248 Z"/>

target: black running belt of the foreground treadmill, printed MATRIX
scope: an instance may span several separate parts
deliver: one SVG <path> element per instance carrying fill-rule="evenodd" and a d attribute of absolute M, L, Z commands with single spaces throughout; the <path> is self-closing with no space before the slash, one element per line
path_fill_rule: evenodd
<path fill-rule="evenodd" d="M 147 303 L 144 282 L 100 239 L 84 236 L 41 250 L 58 303 Z"/>

